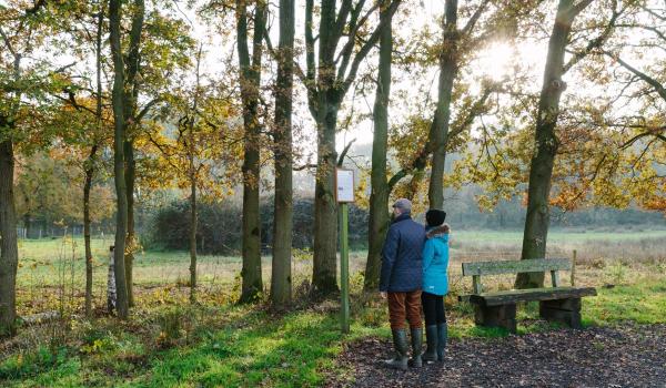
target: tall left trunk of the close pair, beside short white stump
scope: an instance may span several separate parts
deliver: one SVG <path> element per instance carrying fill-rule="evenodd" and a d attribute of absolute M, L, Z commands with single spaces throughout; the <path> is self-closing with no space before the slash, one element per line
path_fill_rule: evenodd
<path fill-rule="evenodd" d="M 128 288 L 125 282 L 124 252 L 128 227 L 128 197 L 124 172 L 124 64 L 120 43 L 120 0 L 109 0 L 109 30 L 113 57 L 113 176 L 115 182 L 115 243 L 113 267 L 115 275 L 117 310 L 121 319 L 129 317 Z"/>

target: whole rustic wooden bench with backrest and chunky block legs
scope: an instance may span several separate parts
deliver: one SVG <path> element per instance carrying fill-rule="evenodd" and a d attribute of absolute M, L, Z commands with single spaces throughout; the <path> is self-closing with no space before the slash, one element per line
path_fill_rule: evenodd
<path fill-rule="evenodd" d="M 567 258 L 463 263 L 463 276 L 472 276 L 474 293 L 461 297 L 461 300 L 468 300 L 474 305 L 474 320 L 480 326 L 504 327 L 516 333 L 516 303 L 538 300 L 542 318 L 579 328 L 581 298 L 596 295 L 596 289 L 561 287 L 557 272 L 571 269 L 572 263 Z M 482 275 L 535 272 L 551 272 L 553 287 L 483 292 Z"/>

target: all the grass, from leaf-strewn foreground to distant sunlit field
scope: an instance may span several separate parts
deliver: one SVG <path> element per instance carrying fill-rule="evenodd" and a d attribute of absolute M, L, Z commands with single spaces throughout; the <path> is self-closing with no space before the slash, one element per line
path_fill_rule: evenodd
<path fill-rule="evenodd" d="M 471 306 L 455 295 L 471 282 L 460 275 L 460 262 L 512 257 L 519 233 L 457 232 L 446 299 L 454 340 L 496 337 L 507 333 L 474 325 Z M 8 387 L 314 387 L 329 374 L 346 374 L 335 364 L 345 343 L 366 336 L 389 337 L 387 314 L 376 295 L 361 292 L 365 253 L 351 255 L 352 333 L 339 330 L 336 300 L 311 302 L 301 282 L 311 270 L 305 254 L 294 259 L 296 306 L 274 313 L 264 303 L 238 306 L 239 257 L 201 256 L 200 304 L 188 303 L 189 255 L 144 252 L 135 262 L 138 305 L 128 323 L 103 312 L 109 242 L 95 239 L 95 317 L 81 317 L 83 259 L 80 239 L 22 242 L 19 312 L 30 315 L 62 308 L 63 320 L 23 326 L 0 343 L 0 386 Z M 618 251 L 614 244 L 623 248 Z M 666 231 L 642 233 L 555 232 L 551 244 L 576 248 L 583 257 L 577 285 L 595 286 L 586 298 L 585 325 L 666 323 Z M 598 256 L 599 252 L 614 252 Z M 490 253 L 485 253 L 490 251 Z M 624 254 L 623 254 L 624 251 Z M 589 253 L 592 252 L 592 253 Z M 506 254 L 505 254 L 506 253 Z M 557 253 L 557 252 L 556 252 Z M 270 259 L 264 259 L 268 284 Z M 568 274 L 562 274 L 568 279 Z M 566 280 L 565 280 L 566 282 Z M 484 286 L 509 288 L 512 276 L 484 279 Z M 538 319 L 538 306 L 519 308 L 518 331 L 561 329 Z M 389 350 L 389 349 L 387 349 Z"/>

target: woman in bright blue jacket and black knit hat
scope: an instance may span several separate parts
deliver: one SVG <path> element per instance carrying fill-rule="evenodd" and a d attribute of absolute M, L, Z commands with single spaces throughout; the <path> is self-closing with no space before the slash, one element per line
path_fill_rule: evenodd
<path fill-rule="evenodd" d="M 448 330 L 444 312 L 444 295 L 448 293 L 448 225 L 446 213 L 431 208 L 425 213 L 426 242 L 423 246 L 423 293 L 427 349 L 424 361 L 443 361 Z"/>

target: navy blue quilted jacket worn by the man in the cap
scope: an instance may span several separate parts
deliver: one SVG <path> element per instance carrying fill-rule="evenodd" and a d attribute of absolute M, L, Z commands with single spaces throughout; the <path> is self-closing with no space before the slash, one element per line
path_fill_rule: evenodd
<path fill-rule="evenodd" d="M 381 292 L 406 293 L 421 289 L 424 242 L 425 228 L 412 221 L 408 214 L 401 214 L 393 221 L 382 249 Z"/>

